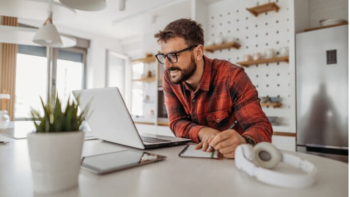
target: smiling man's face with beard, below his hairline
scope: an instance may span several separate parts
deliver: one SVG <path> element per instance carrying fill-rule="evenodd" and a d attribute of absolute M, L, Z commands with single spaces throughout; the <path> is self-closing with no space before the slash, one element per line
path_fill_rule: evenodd
<path fill-rule="evenodd" d="M 161 41 L 161 53 L 167 54 L 177 52 L 189 46 L 181 37 L 174 37 L 167 42 Z M 194 59 L 193 49 L 177 54 L 177 62 L 171 63 L 168 58 L 164 60 L 165 72 L 170 75 L 170 80 L 173 84 L 179 84 L 189 79 L 197 69 L 197 64 Z"/>

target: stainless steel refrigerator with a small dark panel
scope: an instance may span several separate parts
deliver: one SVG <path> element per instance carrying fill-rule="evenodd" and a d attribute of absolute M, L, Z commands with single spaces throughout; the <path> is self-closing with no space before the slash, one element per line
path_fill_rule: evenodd
<path fill-rule="evenodd" d="M 297 151 L 348 162 L 348 30 L 296 34 Z"/>

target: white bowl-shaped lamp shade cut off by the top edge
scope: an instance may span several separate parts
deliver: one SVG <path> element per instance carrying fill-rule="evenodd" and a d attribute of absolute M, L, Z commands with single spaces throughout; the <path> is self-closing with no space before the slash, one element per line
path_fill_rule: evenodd
<path fill-rule="evenodd" d="M 105 0 L 60 0 L 68 7 L 85 11 L 99 11 L 106 7 Z"/>

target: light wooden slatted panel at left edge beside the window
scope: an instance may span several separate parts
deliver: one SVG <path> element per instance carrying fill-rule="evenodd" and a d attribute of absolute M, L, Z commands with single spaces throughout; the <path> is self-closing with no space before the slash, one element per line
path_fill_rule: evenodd
<path fill-rule="evenodd" d="M 16 17 L 1 16 L 1 25 L 18 26 Z M 11 95 L 4 104 L 11 120 L 14 120 L 15 90 L 16 90 L 16 56 L 17 44 L 0 43 L 0 93 Z"/>

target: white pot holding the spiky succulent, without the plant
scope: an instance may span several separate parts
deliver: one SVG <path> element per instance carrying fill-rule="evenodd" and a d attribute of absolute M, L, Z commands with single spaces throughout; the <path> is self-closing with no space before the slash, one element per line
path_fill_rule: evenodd
<path fill-rule="evenodd" d="M 52 193 L 78 185 L 83 131 L 29 133 L 34 191 Z"/>

